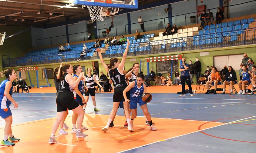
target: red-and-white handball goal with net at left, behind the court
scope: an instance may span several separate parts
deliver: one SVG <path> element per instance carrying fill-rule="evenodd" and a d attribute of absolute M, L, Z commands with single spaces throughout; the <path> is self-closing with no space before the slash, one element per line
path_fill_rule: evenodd
<path fill-rule="evenodd" d="M 25 67 L 19 68 L 20 73 L 21 71 L 25 71 L 26 76 L 29 77 L 29 81 L 27 81 L 27 85 L 31 85 L 32 87 L 49 87 L 48 78 L 46 75 L 46 70 L 44 67 Z"/>

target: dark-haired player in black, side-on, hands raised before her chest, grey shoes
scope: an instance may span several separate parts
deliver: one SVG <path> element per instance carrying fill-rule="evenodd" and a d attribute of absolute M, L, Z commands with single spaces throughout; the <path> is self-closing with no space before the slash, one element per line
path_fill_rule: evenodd
<path fill-rule="evenodd" d="M 64 118 L 67 109 L 74 111 L 78 115 L 78 118 L 77 118 L 78 129 L 76 130 L 76 137 L 80 137 L 80 138 L 87 137 L 87 135 L 81 131 L 84 111 L 83 111 L 83 108 L 79 105 L 79 103 L 74 99 L 74 94 L 72 92 L 72 88 L 75 88 L 76 86 L 78 86 L 80 80 L 84 79 L 84 76 L 83 76 L 83 73 L 80 73 L 77 80 L 74 81 L 71 75 L 72 72 L 73 72 L 73 68 L 70 64 L 65 64 L 60 68 L 60 78 L 59 78 L 60 88 L 56 98 L 57 117 L 52 126 L 52 134 L 49 140 L 50 144 L 57 143 L 57 141 L 54 138 L 54 135 L 59 127 L 60 122 Z"/>

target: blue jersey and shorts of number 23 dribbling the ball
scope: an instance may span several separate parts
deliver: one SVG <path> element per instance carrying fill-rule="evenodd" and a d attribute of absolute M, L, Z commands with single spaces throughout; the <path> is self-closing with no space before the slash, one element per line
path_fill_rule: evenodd
<path fill-rule="evenodd" d="M 130 89 L 130 109 L 136 109 L 137 104 L 139 104 L 140 106 L 147 104 L 144 101 L 142 101 L 141 98 L 143 91 L 143 84 L 141 84 L 141 87 L 138 88 L 137 81 L 135 81 L 134 87 Z"/>

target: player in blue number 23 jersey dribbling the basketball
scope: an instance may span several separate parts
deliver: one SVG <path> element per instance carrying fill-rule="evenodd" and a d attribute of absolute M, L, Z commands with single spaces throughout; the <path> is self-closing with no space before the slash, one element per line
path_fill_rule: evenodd
<path fill-rule="evenodd" d="M 147 92 L 147 87 L 143 83 L 144 77 L 143 72 L 140 72 L 136 77 L 136 81 L 130 82 L 130 84 L 124 89 L 123 97 L 125 98 L 125 102 L 130 102 L 130 109 L 132 110 L 131 126 L 133 127 L 133 119 L 137 116 L 137 104 L 139 104 L 143 114 L 147 117 L 150 124 L 149 129 L 152 131 L 157 131 L 157 128 L 154 127 L 152 123 L 150 113 L 148 112 L 147 103 L 142 101 L 141 98 L 142 94 Z M 130 91 L 130 100 L 126 96 L 126 92 L 128 91 Z"/>

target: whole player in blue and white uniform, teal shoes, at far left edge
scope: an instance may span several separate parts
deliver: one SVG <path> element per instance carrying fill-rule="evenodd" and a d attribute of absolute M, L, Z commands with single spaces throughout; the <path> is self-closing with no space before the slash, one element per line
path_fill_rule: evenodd
<path fill-rule="evenodd" d="M 5 131 L 0 145 L 13 146 L 15 143 L 12 142 L 20 141 L 12 135 L 12 112 L 9 107 L 12 103 L 14 108 L 18 108 L 18 104 L 12 98 L 12 81 L 17 78 L 17 74 L 14 69 L 7 69 L 1 72 L 1 77 L 4 75 L 6 79 L 0 84 L 0 116 L 5 120 Z"/>

